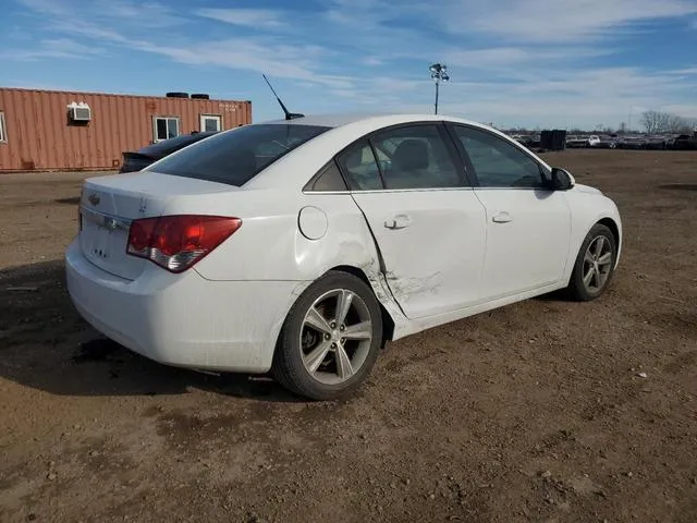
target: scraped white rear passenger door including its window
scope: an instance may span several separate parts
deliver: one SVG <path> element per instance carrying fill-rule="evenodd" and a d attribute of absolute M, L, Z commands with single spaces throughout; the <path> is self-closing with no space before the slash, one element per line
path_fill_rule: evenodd
<path fill-rule="evenodd" d="M 390 127 L 337 162 L 377 242 L 386 279 L 408 318 L 479 300 L 485 208 L 444 125 Z"/>

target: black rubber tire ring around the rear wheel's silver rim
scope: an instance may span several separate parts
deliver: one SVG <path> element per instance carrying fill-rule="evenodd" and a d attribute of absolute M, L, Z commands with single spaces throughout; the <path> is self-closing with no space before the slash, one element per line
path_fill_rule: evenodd
<path fill-rule="evenodd" d="M 299 336 L 308 308 L 319 296 L 334 289 L 346 289 L 356 293 L 368 307 L 372 326 L 372 340 L 368 355 L 360 369 L 339 385 L 317 381 L 305 368 L 301 356 Z M 370 374 L 382 342 L 382 313 L 372 289 L 360 278 L 331 271 L 310 284 L 291 307 L 277 344 L 272 374 L 286 388 L 314 400 L 331 400 L 354 391 Z"/>

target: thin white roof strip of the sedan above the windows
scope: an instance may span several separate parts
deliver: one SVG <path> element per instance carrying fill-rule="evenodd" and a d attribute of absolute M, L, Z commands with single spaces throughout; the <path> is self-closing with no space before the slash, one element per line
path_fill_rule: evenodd
<path fill-rule="evenodd" d="M 351 123 L 371 122 L 376 127 L 395 125 L 400 123 L 408 123 L 415 121 L 433 121 L 433 122 L 457 122 L 477 126 L 486 126 L 480 123 L 465 120 L 462 118 L 449 117 L 445 114 L 419 114 L 419 113 L 334 113 L 334 114 L 310 114 L 303 118 L 294 118 L 293 120 L 270 120 L 259 122 L 262 124 L 289 124 L 289 125 L 319 125 L 323 127 L 342 127 Z"/>

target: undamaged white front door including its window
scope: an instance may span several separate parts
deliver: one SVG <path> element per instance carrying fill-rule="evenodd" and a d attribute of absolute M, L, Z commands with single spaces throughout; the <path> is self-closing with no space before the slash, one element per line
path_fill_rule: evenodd
<path fill-rule="evenodd" d="M 487 130 L 449 129 L 487 212 L 482 297 L 491 301 L 559 283 L 568 254 L 571 210 L 565 194 L 549 188 L 547 168 Z"/>

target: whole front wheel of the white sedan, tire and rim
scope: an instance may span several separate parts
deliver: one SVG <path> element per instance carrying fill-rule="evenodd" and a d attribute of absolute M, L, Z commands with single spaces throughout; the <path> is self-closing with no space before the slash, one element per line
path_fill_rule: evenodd
<path fill-rule="evenodd" d="M 592 248 L 589 251 L 591 245 Z M 612 280 L 616 259 L 617 246 L 612 231 L 607 226 L 596 223 L 584 239 L 576 256 L 567 287 L 571 297 L 579 302 L 590 302 L 599 297 Z"/>

